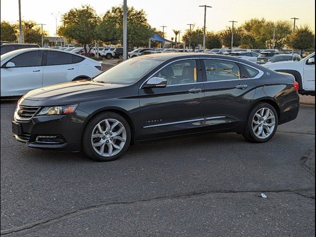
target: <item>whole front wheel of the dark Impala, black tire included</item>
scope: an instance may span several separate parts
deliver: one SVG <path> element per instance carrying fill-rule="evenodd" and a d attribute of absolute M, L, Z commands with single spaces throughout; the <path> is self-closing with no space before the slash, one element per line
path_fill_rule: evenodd
<path fill-rule="evenodd" d="M 84 153 L 97 161 L 119 158 L 129 147 L 131 131 L 128 122 L 113 112 L 91 118 L 82 135 Z"/>

